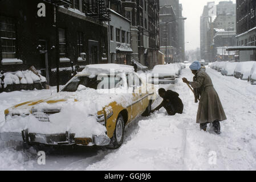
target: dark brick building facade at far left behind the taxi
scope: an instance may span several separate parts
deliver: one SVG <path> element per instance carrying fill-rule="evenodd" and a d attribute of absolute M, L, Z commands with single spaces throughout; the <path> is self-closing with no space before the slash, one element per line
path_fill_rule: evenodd
<path fill-rule="evenodd" d="M 42 0 L 0 1 L 0 70 L 22 71 L 33 65 L 48 84 L 56 85 L 57 57 L 60 84 L 71 78 L 72 65 L 82 69 L 108 63 L 106 17 L 94 17 L 99 9 L 89 1 L 68 2 L 55 7 Z M 45 5 L 45 16 L 38 15 L 39 3 Z"/>

